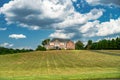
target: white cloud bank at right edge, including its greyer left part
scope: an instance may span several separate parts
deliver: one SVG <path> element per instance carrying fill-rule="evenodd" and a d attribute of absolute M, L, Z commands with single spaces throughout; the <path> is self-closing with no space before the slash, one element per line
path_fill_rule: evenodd
<path fill-rule="evenodd" d="M 120 18 L 119 19 L 111 19 L 108 22 L 94 21 L 88 22 L 82 27 L 80 27 L 80 32 L 84 37 L 94 37 L 94 36 L 108 36 L 112 34 L 120 33 Z"/>

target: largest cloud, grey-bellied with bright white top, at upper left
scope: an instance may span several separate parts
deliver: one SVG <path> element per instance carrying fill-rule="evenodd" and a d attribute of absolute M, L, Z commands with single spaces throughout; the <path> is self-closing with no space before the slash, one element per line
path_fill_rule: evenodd
<path fill-rule="evenodd" d="M 12 0 L 4 4 L 1 13 L 5 15 L 8 24 L 22 24 L 31 29 L 39 29 L 38 26 L 50 28 L 71 14 L 71 5 L 70 0 Z"/>

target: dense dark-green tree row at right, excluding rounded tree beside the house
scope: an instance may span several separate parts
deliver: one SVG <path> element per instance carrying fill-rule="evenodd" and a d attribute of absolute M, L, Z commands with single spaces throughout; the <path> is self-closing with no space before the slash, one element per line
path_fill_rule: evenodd
<path fill-rule="evenodd" d="M 92 40 L 88 41 L 88 44 L 85 47 L 86 49 L 92 50 L 120 50 L 120 38 L 112 39 L 112 40 L 100 40 L 98 42 L 93 42 Z"/>

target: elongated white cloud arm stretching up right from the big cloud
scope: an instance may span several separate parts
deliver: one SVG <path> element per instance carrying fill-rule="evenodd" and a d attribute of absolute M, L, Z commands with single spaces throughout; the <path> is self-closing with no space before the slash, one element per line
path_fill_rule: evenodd
<path fill-rule="evenodd" d="M 67 16 L 63 22 L 54 24 L 54 26 L 55 28 L 74 28 L 75 26 L 80 27 L 79 25 L 85 24 L 89 20 L 96 20 L 100 18 L 103 15 L 103 12 L 103 9 L 92 9 L 86 14 L 73 12 L 70 16 Z"/>

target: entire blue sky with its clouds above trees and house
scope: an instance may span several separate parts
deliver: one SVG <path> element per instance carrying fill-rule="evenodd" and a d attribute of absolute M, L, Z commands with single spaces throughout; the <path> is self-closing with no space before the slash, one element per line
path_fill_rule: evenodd
<path fill-rule="evenodd" d="M 0 0 L 0 46 L 35 49 L 46 38 L 120 36 L 119 0 Z"/>

